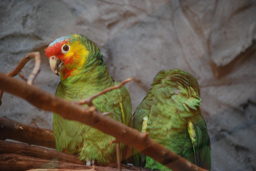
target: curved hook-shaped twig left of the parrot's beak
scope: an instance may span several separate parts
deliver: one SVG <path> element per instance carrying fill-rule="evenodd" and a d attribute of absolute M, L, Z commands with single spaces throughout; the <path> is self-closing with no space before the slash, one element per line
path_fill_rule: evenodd
<path fill-rule="evenodd" d="M 7 73 L 6 75 L 8 75 L 10 77 L 16 76 L 22 70 L 22 68 L 25 66 L 25 64 L 32 58 L 35 58 L 35 66 L 34 66 L 32 73 L 29 75 L 29 77 L 26 81 L 27 84 L 32 85 L 35 81 L 37 74 L 40 72 L 41 56 L 40 56 L 39 52 L 31 52 L 31 53 L 27 54 L 27 56 L 25 56 L 19 62 L 17 67 L 12 72 Z M 0 106 L 2 104 L 1 99 L 2 99 L 3 93 L 4 93 L 4 91 L 0 89 Z"/>

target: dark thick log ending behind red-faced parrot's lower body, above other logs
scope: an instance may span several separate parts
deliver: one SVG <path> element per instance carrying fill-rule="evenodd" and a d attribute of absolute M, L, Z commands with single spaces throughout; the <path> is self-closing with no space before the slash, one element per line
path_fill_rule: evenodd
<path fill-rule="evenodd" d="M 12 139 L 27 144 L 55 149 L 53 131 L 36 124 L 24 124 L 6 117 L 0 118 L 0 140 Z"/>

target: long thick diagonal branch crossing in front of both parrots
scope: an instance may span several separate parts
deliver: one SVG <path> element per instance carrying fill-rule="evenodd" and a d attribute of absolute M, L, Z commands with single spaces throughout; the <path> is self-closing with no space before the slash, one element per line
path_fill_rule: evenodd
<path fill-rule="evenodd" d="M 205 169 L 190 163 L 186 159 L 154 142 L 148 134 L 138 132 L 110 117 L 103 116 L 97 110 L 90 110 L 89 108 L 61 99 L 33 85 L 27 85 L 22 81 L 10 78 L 1 73 L 0 89 L 24 98 L 38 108 L 54 111 L 65 119 L 77 120 L 106 134 L 112 135 L 118 142 L 132 146 L 142 154 L 153 158 L 174 171 L 205 171 Z"/>

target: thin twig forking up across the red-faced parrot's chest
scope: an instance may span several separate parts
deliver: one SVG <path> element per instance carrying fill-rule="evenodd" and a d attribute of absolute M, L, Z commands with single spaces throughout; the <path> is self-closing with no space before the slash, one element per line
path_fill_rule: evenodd
<path fill-rule="evenodd" d="M 101 92 L 96 93 L 96 94 L 94 94 L 93 96 L 91 96 L 89 98 L 86 98 L 86 99 L 83 99 L 83 100 L 74 101 L 74 103 L 79 104 L 79 105 L 87 104 L 89 106 L 93 106 L 93 104 L 92 104 L 92 100 L 93 99 L 95 99 L 96 97 L 98 97 L 98 96 L 100 96 L 102 94 L 105 94 L 106 92 L 109 92 L 109 91 L 111 91 L 113 89 L 118 89 L 118 88 L 122 87 L 124 84 L 126 84 L 126 83 L 128 83 L 128 82 L 130 82 L 132 80 L 133 80 L 132 77 L 131 78 L 127 78 L 127 79 L 125 79 L 123 82 L 121 82 L 118 85 L 106 88 L 106 89 L 102 90 Z"/>

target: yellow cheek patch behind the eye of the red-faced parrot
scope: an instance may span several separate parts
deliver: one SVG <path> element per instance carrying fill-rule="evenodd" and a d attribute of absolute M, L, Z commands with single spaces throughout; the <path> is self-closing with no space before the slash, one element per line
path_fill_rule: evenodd
<path fill-rule="evenodd" d="M 88 55 L 89 51 L 79 41 L 75 41 L 70 45 L 70 50 L 65 54 L 65 59 L 70 61 L 69 64 L 75 64 L 76 67 L 83 66 Z"/>

